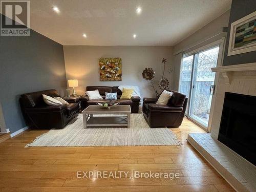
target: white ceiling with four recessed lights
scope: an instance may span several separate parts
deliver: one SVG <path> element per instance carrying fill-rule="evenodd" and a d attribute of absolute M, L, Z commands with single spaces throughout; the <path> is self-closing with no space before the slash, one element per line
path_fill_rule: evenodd
<path fill-rule="evenodd" d="M 230 6 L 231 0 L 32 0 L 31 28 L 62 45 L 174 46 Z"/>

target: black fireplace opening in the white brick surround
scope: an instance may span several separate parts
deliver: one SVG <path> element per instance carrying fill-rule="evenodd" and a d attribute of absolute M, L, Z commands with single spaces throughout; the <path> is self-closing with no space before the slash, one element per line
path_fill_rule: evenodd
<path fill-rule="evenodd" d="M 218 140 L 256 165 L 256 97 L 225 93 Z"/>

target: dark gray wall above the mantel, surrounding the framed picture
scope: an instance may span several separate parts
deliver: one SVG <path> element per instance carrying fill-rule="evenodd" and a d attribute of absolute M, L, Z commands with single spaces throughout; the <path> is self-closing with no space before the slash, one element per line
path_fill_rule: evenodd
<path fill-rule="evenodd" d="M 251 51 L 251 52 L 242 53 L 242 54 L 238 54 L 238 55 L 227 56 L 231 23 L 235 22 L 236 20 L 238 20 L 254 11 L 256 11 L 256 1 L 255 0 L 233 0 L 232 1 L 223 66 L 256 62 L 256 51 Z"/>

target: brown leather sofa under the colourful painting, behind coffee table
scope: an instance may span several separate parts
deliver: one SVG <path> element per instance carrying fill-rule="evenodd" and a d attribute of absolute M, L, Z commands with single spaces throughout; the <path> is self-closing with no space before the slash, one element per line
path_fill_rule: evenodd
<path fill-rule="evenodd" d="M 120 99 L 122 92 L 118 89 L 118 87 L 106 87 L 106 86 L 87 86 L 86 91 L 94 91 L 99 90 L 99 94 L 102 96 L 103 99 L 99 100 L 89 100 L 89 97 L 83 96 L 80 97 L 79 100 L 81 101 L 82 110 L 86 109 L 89 105 L 96 105 L 98 102 L 108 102 L 109 100 L 105 100 L 105 92 L 108 93 L 117 93 L 117 101 L 120 104 L 131 105 L 132 113 L 138 113 L 139 111 L 139 104 L 140 104 L 140 97 L 133 96 L 131 99 Z"/>

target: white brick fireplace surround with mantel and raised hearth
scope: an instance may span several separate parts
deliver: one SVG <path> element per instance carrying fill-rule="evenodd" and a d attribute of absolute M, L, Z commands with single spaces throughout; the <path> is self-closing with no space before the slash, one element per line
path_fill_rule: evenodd
<path fill-rule="evenodd" d="M 256 96 L 256 63 L 212 68 L 212 72 L 217 72 L 218 82 L 216 84 L 215 104 L 211 108 L 210 133 L 188 134 L 187 140 L 234 189 L 237 191 L 256 191 L 256 166 L 246 160 L 246 157 L 242 157 L 239 152 L 234 152 L 231 147 L 218 140 L 221 123 L 224 123 L 222 111 L 225 111 L 226 93 L 242 94 L 253 98 Z M 250 109 L 256 111 L 252 103 L 250 103 Z M 252 121 L 255 121 L 254 119 Z M 239 121 L 236 118 L 235 120 Z M 236 122 L 236 126 L 238 123 Z M 243 123 L 244 130 L 247 125 L 249 125 L 248 122 Z M 243 135 L 240 136 L 244 137 Z"/>

